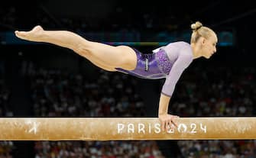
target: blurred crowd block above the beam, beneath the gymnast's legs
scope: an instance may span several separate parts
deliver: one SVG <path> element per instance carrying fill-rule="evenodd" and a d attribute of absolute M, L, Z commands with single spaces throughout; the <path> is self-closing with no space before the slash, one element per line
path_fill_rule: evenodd
<path fill-rule="evenodd" d="M 134 91 L 131 76 L 101 71 L 97 79 L 58 69 L 31 73 L 34 115 L 45 117 L 136 117 L 144 115 L 144 104 Z"/>

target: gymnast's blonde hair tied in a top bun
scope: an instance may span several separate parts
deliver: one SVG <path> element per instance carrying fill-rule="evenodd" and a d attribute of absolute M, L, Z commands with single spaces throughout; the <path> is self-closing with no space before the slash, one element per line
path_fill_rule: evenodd
<path fill-rule="evenodd" d="M 203 26 L 203 24 L 199 21 L 196 21 L 196 23 L 191 24 L 191 29 L 193 31 L 190 40 L 191 44 L 196 44 L 197 40 L 199 40 L 199 37 L 204 37 L 208 39 L 210 36 L 212 36 L 212 34 L 215 34 L 215 32 L 212 31 L 212 29 Z"/>

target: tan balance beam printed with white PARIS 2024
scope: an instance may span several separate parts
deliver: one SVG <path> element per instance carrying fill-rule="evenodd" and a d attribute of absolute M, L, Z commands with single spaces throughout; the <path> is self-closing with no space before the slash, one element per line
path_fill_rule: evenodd
<path fill-rule="evenodd" d="M 245 140 L 256 118 L 178 118 L 162 131 L 158 118 L 0 118 L 0 140 Z"/>

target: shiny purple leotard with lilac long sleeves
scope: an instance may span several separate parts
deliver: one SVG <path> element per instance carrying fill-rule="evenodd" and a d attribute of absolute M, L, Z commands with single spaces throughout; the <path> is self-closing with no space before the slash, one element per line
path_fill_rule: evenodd
<path fill-rule="evenodd" d="M 161 47 L 156 53 L 143 54 L 134 49 L 138 62 L 134 70 L 116 68 L 119 72 L 128 73 L 143 79 L 166 78 L 162 93 L 167 96 L 173 94 L 175 85 L 184 69 L 193 61 L 190 44 L 174 42 Z"/>

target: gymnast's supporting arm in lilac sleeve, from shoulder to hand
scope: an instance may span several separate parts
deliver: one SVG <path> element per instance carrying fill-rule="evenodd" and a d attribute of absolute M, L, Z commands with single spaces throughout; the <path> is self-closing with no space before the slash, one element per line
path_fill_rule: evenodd
<path fill-rule="evenodd" d="M 173 64 L 173 67 L 164 82 L 164 86 L 160 95 L 158 110 L 158 117 L 160 119 L 163 131 L 168 130 L 171 124 L 177 127 L 175 118 L 178 117 L 168 114 L 170 98 L 173 94 L 173 90 L 175 88 L 175 85 L 177 84 L 178 79 L 180 79 L 180 76 L 183 73 L 184 69 L 186 69 L 186 67 L 190 65 L 192 60 L 193 57 L 191 57 L 190 55 L 180 54 L 177 61 Z"/>

